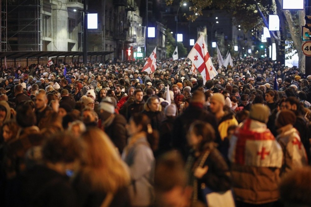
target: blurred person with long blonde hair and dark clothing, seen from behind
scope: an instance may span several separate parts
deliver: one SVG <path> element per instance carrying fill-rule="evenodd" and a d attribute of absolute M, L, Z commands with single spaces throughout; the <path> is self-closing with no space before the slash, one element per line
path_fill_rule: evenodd
<path fill-rule="evenodd" d="M 81 140 L 85 156 L 73 181 L 79 195 L 77 206 L 130 206 L 130 172 L 107 134 L 93 127 Z"/>

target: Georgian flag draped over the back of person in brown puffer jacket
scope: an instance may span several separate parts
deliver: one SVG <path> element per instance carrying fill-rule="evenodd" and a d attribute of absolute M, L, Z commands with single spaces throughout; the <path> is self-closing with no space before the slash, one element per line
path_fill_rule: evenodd
<path fill-rule="evenodd" d="M 269 129 L 253 131 L 249 127 L 251 119 L 236 130 L 230 139 L 228 158 L 230 162 L 254 166 L 281 168 L 283 151 Z"/>

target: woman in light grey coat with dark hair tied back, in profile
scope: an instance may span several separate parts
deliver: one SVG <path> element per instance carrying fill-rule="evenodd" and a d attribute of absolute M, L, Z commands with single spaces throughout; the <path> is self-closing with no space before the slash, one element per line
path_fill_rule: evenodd
<path fill-rule="evenodd" d="M 132 206 L 150 206 L 154 203 L 155 158 L 148 142 L 153 135 L 150 120 L 144 114 L 134 114 L 127 125 L 128 144 L 122 160 L 128 164 L 131 185 L 129 193 Z"/>

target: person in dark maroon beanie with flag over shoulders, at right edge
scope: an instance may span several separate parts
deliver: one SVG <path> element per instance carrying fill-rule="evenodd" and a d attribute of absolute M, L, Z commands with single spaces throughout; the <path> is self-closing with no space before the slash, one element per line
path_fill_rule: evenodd
<path fill-rule="evenodd" d="M 291 110 L 281 110 L 276 115 L 276 127 L 279 134 L 276 140 L 280 143 L 284 153 L 281 176 L 296 168 L 308 165 L 306 151 L 300 140 L 299 132 L 293 127 L 295 122 L 296 115 Z"/>

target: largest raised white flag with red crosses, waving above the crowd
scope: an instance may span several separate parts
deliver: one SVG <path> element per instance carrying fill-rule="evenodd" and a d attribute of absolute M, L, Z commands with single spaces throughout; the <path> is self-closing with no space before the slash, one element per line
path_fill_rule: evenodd
<path fill-rule="evenodd" d="M 188 55 L 188 58 L 201 73 L 203 84 L 205 84 L 207 80 L 213 79 L 218 74 L 211 61 L 211 56 L 207 51 L 207 45 L 203 35 L 201 35 L 197 42 L 194 44 Z"/>

